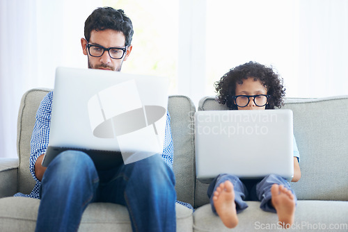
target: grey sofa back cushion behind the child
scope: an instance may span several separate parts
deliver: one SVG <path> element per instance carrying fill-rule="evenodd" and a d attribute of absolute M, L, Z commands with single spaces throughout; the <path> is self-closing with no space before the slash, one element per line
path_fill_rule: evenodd
<path fill-rule="evenodd" d="M 294 136 L 300 152 L 301 179 L 291 183 L 298 199 L 348 201 L 348 96 L 285 99 L 294 113 Z M 198 110 L 228 110 L 214 97 Z M 209 203 L 207 186 L 197 181 L 195 206 Z"/>

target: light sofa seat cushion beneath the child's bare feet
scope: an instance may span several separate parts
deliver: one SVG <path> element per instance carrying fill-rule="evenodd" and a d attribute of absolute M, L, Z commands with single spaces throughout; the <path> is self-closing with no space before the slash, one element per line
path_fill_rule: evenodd
<path fill-rule="evenodd" d="M 232 231 L 284 231 L 279 229 L 276 213 L 260 209 L 260 202 L 246 201 L 248 208 L 238 214 Z M 323 210 L 325 209 L 325 210 Z M 347 231 L 348 201 L 297 201 L 294 224 L 287 231 Z M 193 213 L 193 231 L 231 231 L 212 213 L 209 204 Z"/>

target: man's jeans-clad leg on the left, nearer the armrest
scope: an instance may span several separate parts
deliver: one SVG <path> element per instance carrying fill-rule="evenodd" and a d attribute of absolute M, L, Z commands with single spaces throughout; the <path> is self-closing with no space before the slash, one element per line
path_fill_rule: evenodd
<path fill-rule="evenodd" d="M 77 231 L 98 181 L 93 161 L 83 152 L 64 151 L 54 158 L 42 178 L 36 231 Z"/>

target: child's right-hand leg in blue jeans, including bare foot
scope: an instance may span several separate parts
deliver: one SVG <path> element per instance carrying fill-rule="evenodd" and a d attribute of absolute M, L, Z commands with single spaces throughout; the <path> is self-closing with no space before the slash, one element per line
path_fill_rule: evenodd
<path fill-rule="evenodd" d="M 294 222 L 297 199 L 287 180 L 271 174 L 256 185 L 256 192 L 262 210 L 277 213 L 279 222 L 283 226 Z"/>

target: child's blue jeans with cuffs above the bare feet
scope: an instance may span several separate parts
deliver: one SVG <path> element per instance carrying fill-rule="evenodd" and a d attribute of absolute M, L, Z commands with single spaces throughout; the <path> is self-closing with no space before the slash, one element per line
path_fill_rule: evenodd
<path fill-rule="evenodd" d="M 260 208 L 262 210 L 276 213 L 276 209 L 271 205 L 271 187 L 274 183 L 284 185 L 285 188 L 291 190 L 292 194 L 294 194 L 295 202 L 297 201 L 296 194 L 291 189 L 290 183 L 286 179 L 275 174 L 270 174 L 264 177 L 264 179 L 259 180 L 240 180 L 237 176 L 220 174 L 210 183 L 207 190 L 210 205 L 215 214 L 216 210 L 213 202 L 214 192 L 216 188 L 225 181 L 231 181 L 234 186 L 237 213 L 240 213 L 248 207 L 245 201 L 261 201 Z"/>

